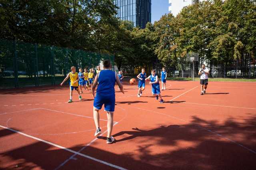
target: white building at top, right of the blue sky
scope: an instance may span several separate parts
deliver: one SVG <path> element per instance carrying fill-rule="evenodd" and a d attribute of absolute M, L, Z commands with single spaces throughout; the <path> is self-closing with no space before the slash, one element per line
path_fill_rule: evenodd
<path fill-rule="evenodd" d="M 202 0 L 199 0 L 202 1 Z M 183 7 L 195 4 L 198 0 L 169 0 L 168 10 L 173 16 L 177 16 Z"/>

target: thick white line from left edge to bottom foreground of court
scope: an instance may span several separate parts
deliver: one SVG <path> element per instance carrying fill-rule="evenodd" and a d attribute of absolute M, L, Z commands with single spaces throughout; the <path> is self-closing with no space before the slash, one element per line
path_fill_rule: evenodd
<path fill-rule="evenodd" d="M 111 167 L 116 168 L 116 169 L 119 169 L 119 170 L 126 170 L 125 168 L 122 168 L 122 167 L 120 167 L 120 166 L 117 166 L 117 165 L 114 165 L 114 164 L 110 164 L 110 163 L 105 162 L 105 161 L 103 161 L 103 160 L 99 160 L 99 159 L 97 159 L 97 158 L 94 158 L 94 157 L 88 156 L 88 155 L 86 155 L 86 154 L 82 154 L 82 153 L 76 152 L 76 151 L 74 151 L 74 150 L 71 150 L 71 149 L 62 147 L 62 146 L 60 146 L 60 145 L 57 145 L 57 144 L 54 144 L 54 143 L 51 143 L 51 142 L 48 142 L 48 141 L 44 141 L 43 139 L 40 139 L 40 138 L 37 138 L 37 137 L 33 137 L 33 136 L 31 136 L 31 135 L 27 135 L 27 134 L 22 133 L 22 132 L 20 132 L 20 131 L 16 131 L 16 130 L 14 130 L 14 129 L 11 129 L 11 128 L 8 128 L 8 127 L 4 127 L 4 126 L 2 126 L 2 125 L 0 125 L 0 127 L 4 128 L 4 129 L 8 129 L 8 130 L 10 130 L 10 131 L 13 131 L 13 132 L 15 132 L 15 133 L 19 133 L 20 135 L 24 135 L 24 136 L 26 136 L 26 137 L 35 139 L 35 140 L 37 140 L 37 141 L 41 141 L 41 142 L 43 142 L 43 143 L 47 143 L 48 145 L 52 145 L 52 146 L 54 146 L 54 147 L 57 147 L 57 148 L 66 150 L 66 151 L 68 151 L 68 152 L 72 152 L 72 153 L 74 153 L 74 154 L 78 154 L 78 155 L 80 155 L 80 156 L 83 156 L 83 157 L 85 157 L 85 158 L 94 160 L 94 161 L 96 161 L 96 162 L 100 162 L 100 163 L 105 164 L 105 165 L 107 165 L 107 166 L 111 166 Z"/>

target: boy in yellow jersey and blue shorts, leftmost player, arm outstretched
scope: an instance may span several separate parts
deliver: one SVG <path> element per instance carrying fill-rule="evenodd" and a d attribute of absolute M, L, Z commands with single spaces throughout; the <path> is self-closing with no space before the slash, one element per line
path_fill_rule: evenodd
<path fill-rule="evenodd" d="M 60 83 L 60 86 L 63 85 L 66 80 L 70 78 L 70 100 L 68 100 L 68 103 L 72 102 L 72 96 L 73 96 L 73 90 L 75 89 L 78 92 L 79 100 L 82 100 L 82 96 L 80 96 L 79 88 L 78 88 L 78 73 L 76 72 L 76 67 L 72 66 L 71 67 L 71 72 L 68 73 L 66 78 L 63 80 L 62 83 Z"/>

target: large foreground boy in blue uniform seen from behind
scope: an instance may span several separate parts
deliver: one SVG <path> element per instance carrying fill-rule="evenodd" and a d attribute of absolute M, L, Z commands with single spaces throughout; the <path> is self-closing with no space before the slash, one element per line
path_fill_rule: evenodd
<path fill-rule="evenodd" d="M 100 115 L 99 111 L 104 104 L 104 110 L 107 111 L 108 123 L 108 135 L 107 135 L 107 143 L 113 143 L 115 141 L 114 137 L 111 136 L 113 129 L 113 114 L 115 110 L 115 84 L 117 82 L 120 91 L 124 94 L 123 86 L 116 74 L 116 72 L 111 70 L 111 63 L 109 60 L 103 61 L 104 70 L 98 72 L 95 76 L 94 82 L 92 84 L 92 95 L 94 97 L 93 103 L 93 117 L 94 123 L 96 126 L 96 132 L 94 136 L 97 136 L 101 133 L 100 130 Z M 99 84 L 98 84 L 99 83 Z M 95 88 L 98 84 L 96 96 L 95 96 Z"/>

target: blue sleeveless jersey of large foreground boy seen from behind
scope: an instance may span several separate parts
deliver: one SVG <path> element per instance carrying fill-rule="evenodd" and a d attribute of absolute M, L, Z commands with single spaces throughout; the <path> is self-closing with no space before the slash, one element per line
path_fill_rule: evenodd
<path fill-rule="evenodd" d="M 98 75 L 97 95 L 114 96 L 116 73 L 112 70 L 101 70 Z"/>

